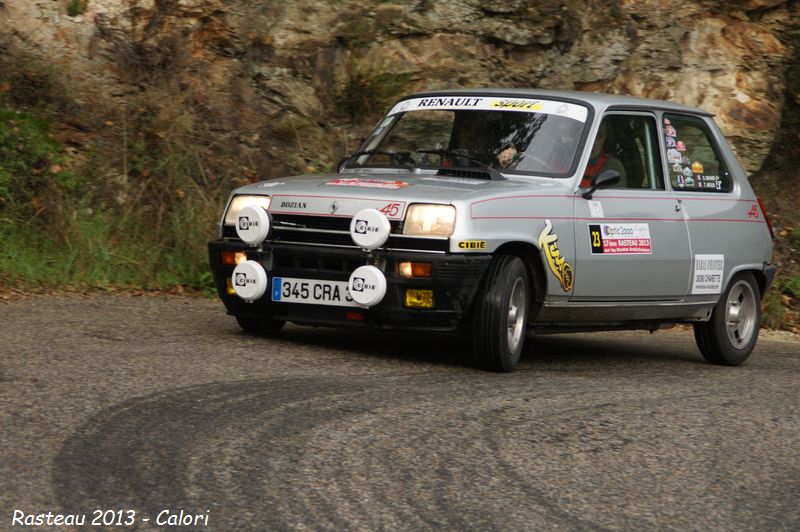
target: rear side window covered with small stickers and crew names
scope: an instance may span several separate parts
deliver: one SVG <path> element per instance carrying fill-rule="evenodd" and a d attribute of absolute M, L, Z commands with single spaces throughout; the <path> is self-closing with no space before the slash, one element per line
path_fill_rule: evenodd
<path fill-rule="evenodd" d="M 733 179 L 703 120 L 664 114 L 664 140 L 673 189 L 691 192 L 733 190 Z"/>

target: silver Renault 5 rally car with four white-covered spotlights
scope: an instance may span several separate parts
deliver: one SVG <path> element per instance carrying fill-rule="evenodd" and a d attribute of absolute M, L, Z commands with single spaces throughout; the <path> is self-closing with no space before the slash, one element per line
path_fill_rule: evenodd
<path fill-rule="evenodd" d="M 247 332 L 469 335 L 495 371 L 527 332 L 694 324 L 738 365 L 771 227 L 712 115 L 665 101 L 452 90 L 397 102 L 336 174 L 235 190 L 209 256 Z"/>

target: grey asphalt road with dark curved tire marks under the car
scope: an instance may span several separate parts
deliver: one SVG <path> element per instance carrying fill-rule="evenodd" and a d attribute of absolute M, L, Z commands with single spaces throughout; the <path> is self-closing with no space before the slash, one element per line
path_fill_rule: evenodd
<path fill-rule="evenodd" d="M 800 528 L 790 335 L 740 368 L 688 330 L 549 336 L 496 375 L 458 339 L 267 340 L 198 299 L 35 297 L 0 323 L 0 529 Z"/>

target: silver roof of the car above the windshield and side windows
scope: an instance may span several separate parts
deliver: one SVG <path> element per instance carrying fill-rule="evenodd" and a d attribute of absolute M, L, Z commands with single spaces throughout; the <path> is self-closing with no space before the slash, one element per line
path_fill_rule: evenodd
<path fill-rule="evenodd" d="M 588 104 L 598 111 L 606 109 L 631 109 L 646 107 L 648 109 L 659 109 L 662 111 L 676 111 L 692 113 L 703 116 L 714 116 L 713 113 L 683 105 L 680 103 L 668 102 L 666 100 L 653 100 L 650 98 L 639 98 L 637 96 L 622 96 L 617 94 L 605 94 L 600 92 L 580 92 L 566 90 L 545 90 L 545 89 L 506 89 L 506 88 L 477 88 L 477 89 L 452 89 L 418 92 L 404 96 L 402 100 L 409 98 L 424 98 L 427 96 L 511 96 L 517 98 L 541 98 L 552 100 L 564 100 L 574 103 Z"/>

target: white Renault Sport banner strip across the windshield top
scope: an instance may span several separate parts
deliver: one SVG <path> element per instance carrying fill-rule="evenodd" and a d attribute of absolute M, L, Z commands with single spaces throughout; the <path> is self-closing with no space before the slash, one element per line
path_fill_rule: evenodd
<path fill-rule="evenodd" d="M 497 96 L 430 96 L 426 98 L 412 98 L 398 103 L 389 112 L 390 115 L 406 111 L 432 110 L 461 110 L 473 109 L 481 111 L 517 111 L 526 113 L 544 113 L 571 118 L 579 122 L 586 122 L 588 110 L 582 105 L 552 100 L 538 100 L 534 98 L 512 98 Z"/>

